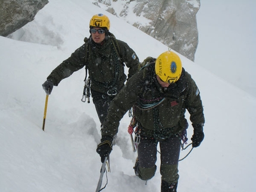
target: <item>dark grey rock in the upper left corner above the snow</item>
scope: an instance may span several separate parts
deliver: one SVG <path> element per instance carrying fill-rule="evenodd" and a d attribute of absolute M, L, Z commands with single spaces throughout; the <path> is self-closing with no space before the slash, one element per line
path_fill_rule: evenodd
<path fill-rule="evenodd" d="M 8 36 L 34 20 L 48 0 L 0 0 L 0 35 Z"/>

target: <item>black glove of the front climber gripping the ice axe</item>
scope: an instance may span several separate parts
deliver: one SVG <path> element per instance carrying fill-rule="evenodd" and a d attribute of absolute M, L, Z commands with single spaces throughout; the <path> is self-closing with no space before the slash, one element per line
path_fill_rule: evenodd
<path fill-rule="evenodd" d="M 102 136 L 101 143 L 98 144 L 96 152 L 101 156 L 101 162 L 103 163 L 105 157 L 110 155 L 112 150 L 112 141 L 113 137 L 110 136 Z"/>

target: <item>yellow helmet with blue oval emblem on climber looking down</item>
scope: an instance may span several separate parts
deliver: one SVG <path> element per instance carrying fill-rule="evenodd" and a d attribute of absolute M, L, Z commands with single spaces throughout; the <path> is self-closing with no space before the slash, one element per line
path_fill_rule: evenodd
<path fill-rule="evenodd" d="M 155 61 L 155 73 L 166 83 L 175 83 L 182 74 L 182 61 L 171 51 L 166 51 L 158 56 Z"/>

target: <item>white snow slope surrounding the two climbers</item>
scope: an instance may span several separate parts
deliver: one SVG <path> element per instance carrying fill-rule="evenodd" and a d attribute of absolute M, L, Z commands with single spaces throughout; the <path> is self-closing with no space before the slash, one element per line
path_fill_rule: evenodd
<path fill-rule="evenodd" d="M 96 190 L 101 168 L 96 153 L 101 138 L 100 123 L 93 103 L 80 101 L 85 70 L 77 71 L 54 87 L 48 99 L 45 131 L 42 131 L 46 99 L 42 83 L 83 44 L 85 36 L 89 37 L 92 15 L 107 14 L 110 31 L 117 39 L 127 42 L 141 61 L 168 49 L 92 2 L 49 0 L 35 20 L 12 34 L 12 39 L 0 36 L 2 192 Z M 199 30 L 204 27 L 207 26 Z M 230 50 L 236 49 L 230 42 L 226 43 Z M 218 50 L 218 46 L 215 48 Z M 245 50 L 243 54 L 246 55 Z M 206 122 L 201 146 L 179 163 L 178 191 L 255 191 L 255 96 L 203 65 L 180 57 L 201 91 Z M 211 60 L 204 55 L 200 57 L 205 62 Z M 189 114 L 186 116 L 189 118 Z M 159 160 L 155 177 L 146 185 L 134 174 L 136 153 L 132 152 L 127 133 L 129 122 L 128 115 L 121 120 L 117 144 L 110 156 L 108 185 L 103 191 L 160 191 Z M 191 136 L 189 125 L 189 141 Z M 188 151 L 182 151 L 180 158 Z M 105 182 L 104 176 L 102 185 Z"/>

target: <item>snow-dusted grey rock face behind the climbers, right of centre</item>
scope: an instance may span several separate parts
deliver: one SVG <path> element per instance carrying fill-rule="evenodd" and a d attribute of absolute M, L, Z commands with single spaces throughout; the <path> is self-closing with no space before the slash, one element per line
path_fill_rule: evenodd
<path fill-rule="evenodd" d="M 196 13 L 200 8 L 200 0 L 98 0 L 98 2 L 99 7 L 100 4 L 104 4 L 111 14 L 125 18 L 128 23 L 194 61 L 198 45 Z M 120 12 L 114 10 L 111 8 L 111 2 L 113 5 L 120 2 L 123 10 Z M 129 20 L 131 17 L 126 18 L 131 12 L 138 21 Z M 143 20 L 146 22 L 141 23 Z"/>

